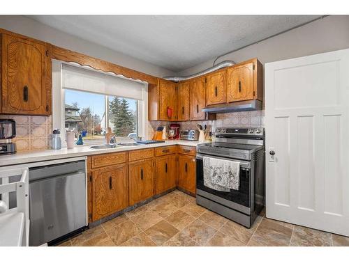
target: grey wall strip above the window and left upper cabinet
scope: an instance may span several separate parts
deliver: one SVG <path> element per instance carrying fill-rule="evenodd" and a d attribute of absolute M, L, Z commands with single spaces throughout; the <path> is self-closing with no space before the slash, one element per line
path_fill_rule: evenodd
<path fill-rule="evenodd" d="M 96 45 L 74 35 L 64 33 L 45 24 L 22 15 L 0 15 L 0 28 L 31 38 L 50 42 L 52 45 L 100 58 L 117 65 L 145 72 L 156 77 L 165 77 L 174 74 L 170 70 L 138 60 L 131 56 L 115 52 L 107 47 Z"/>

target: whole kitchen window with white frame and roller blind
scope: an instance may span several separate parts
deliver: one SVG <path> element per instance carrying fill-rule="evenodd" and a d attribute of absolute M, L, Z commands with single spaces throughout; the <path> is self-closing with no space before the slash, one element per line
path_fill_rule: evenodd
<path fill-rule="evenodd" d="M 87 144 L 105 143 L 108 129 L 147 139 L 147 84 L 59 61 L 52 72 L 54 128 L 75 129 Z"/>

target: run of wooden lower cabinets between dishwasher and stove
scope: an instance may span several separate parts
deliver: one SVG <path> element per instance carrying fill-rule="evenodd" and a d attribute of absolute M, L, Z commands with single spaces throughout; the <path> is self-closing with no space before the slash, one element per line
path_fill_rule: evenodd
<path fill-rule="evenodd" d="M 171 145 L 90 156 L 87 158 L 89 223 L 175 187 L 195 193 L 195 147 Z"/>

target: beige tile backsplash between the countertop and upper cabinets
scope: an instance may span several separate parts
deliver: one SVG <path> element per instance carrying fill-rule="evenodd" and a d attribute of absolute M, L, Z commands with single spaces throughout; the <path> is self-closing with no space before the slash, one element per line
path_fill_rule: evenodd
<path fill-rule="evenodd" d="M 17 151 L 47 150 L 51 148 L 52 117 L 51 116 L 12 116 L 0 115 L 0 118 L 10 118 L 16 122 L 17 136 L 14 141 Z M 165 125 L 168 129 L 171 123 L 179 123 L 181 129 L 196 129 L 196 125 L 207 125 L 207 133 L 216 127 L 264 127 L 265 111 L 243 111 L 237 113 L 218 113 L 216 120 L 192 122 L 148 122 L 148 139 L 154 136 L 158 126 Z"/>

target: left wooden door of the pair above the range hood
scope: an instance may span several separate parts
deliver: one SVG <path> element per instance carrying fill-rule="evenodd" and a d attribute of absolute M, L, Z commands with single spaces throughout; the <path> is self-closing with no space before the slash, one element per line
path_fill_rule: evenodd
<path fill-rule="evenodd" d="M 207 75 L 207 105 L 226 102 L 225 70 Z"/>

